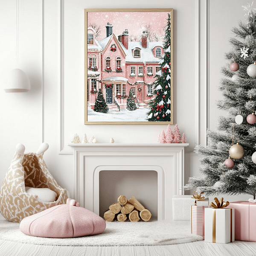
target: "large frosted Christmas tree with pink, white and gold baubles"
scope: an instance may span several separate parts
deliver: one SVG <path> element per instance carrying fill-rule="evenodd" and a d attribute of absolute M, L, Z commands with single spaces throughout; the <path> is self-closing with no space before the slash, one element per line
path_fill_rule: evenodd
<path fill-rule="evenodd" d="M 256 194 L 256 9 L 243 6 L 246 22 L 233 28 L 236 38 L 226 53 L 224 96 L 218 108 L 227 111 L 218 118 L 218 131 L 207 131 L 209 145 L 198 145 L 201 177 L 189 178 L 185 189 L 197 187 L 205 195 Z M 239 144 L 237 144 L 239 143 Z"/>

